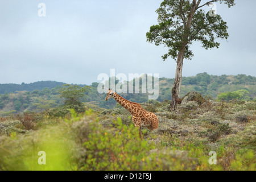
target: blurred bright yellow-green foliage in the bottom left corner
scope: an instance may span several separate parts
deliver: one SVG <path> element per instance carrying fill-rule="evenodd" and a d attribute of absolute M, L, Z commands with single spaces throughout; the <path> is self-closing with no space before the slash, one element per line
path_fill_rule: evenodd
<path fill-rule="evenodd" d="M 72 141 L 67 127 L 51 127 L 26 135 L 11 133 L 0 138 L 1 170 L 71 170 Z M 20 146 L 20 147 L 18 147 Z M 46 165 L 39 165 L 39 151 L 46 152 Z"/>

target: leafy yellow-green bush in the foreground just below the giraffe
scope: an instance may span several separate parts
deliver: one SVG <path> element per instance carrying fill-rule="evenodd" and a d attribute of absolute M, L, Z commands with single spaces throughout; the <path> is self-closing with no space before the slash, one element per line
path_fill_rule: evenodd
<path fill-rule="evenodd" d="M 104 129 L 98 121 L 74 123 L 75 138 L 80 140 L 78 160 L 82 170 L 148 170 L 153 169 L 155 146 L 139 138 L 133 125 L 123 125 L 120 118 L 113 122 L 115 128 Z M 73 132 L 72 132 L 73 133 Z"/>

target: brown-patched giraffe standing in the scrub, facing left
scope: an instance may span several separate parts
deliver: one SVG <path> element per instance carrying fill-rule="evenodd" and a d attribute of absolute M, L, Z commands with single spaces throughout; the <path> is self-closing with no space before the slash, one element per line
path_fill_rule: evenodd
<path fill-rule="evenodd" d="M 113 97 L 122 107 L 128 110 L 132 115 L 132 121 L 134 126 L 139 129 L 139 137 L 142 138 L 141 127 L 147 127 L 150 130 L 158 128 L 158 117 L 154 113 L 148 112 L 142 108 L 142 106 L 136 102 L 131 102 L 125 98 L 119 96 L 112 89 L 106 95 L 106 101 Z"/>

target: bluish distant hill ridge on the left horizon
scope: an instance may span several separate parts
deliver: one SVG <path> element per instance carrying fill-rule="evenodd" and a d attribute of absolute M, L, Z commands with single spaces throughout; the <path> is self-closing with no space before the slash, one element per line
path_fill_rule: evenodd
<path fill-rule="evenodd" d="M 57 81 L 37 81 L 30 84 L 0 84 L 0 94 L 5 92 L 15 92 L 15 91 L 28 91 L 32 92 L 33 90 L 42 90 L 43 88 L 55 88 L 56 86 L 62 86 L 64 82 Z"/>

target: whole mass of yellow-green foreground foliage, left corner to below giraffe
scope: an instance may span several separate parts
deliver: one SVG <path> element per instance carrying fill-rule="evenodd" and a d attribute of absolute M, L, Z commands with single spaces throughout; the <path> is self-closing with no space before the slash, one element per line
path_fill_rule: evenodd
<path fill-rule="evenodd" d="M 85 116 L 71 110 L 71 119 L 59 126 L 10 139 L 0 138 L 0 169 L 3 170 L 131 170 L 156 167 L 154 143 L 141 140 L 138 129 L 113 121 L 104 129 L 92 111 Z M 15 148 L 18 144 L 23 147 Z M 57 148 L 57 150 L 56 150 Z M 39 165 L 38 151 L 46 151 L 47 164 Z M 153 163 L 153 164 L 151 164 Z"/>

